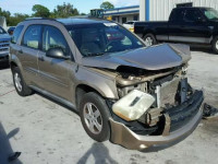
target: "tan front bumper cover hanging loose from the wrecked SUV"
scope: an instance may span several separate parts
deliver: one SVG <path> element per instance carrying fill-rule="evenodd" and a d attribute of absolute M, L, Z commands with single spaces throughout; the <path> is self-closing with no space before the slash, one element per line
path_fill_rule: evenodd
<path fill-rule="evenodd" d="M 199 108 L 203 102 L 203 93 L 201 99 L 193 102 L 193 108 Z M 166 119 L 165 127 L 168 132 L 165 132 L 161 136 L 142 136 L 130 130 L 125 125 L 113 120 L 110 118 L 111 125 L 111 138 L 110 141 L 116 144 L 120 144 L 126 149 L 140 150 L 144 152 L 159 151 L 177 144 L 178 142 L 185 139 L 190 136 L 198 122 L 202 119 L 203 110 L 202 108 L 189 120 L 187 124 L 181 128 L 170 131 L 170 122 Z"/>

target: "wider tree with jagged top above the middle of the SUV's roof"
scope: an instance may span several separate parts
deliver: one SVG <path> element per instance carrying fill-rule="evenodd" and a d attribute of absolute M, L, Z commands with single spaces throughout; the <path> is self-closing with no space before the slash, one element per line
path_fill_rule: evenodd
<path fill-rule="evenodd" d="M 51 17 L 69 17 L 78 15 L 78 11 L 76 8 L 73 8 L 73 4 L 71 3 L 63 3 L 62 5 L 57 5 L 57 8 L 53 10 L 53 13 Z"/>

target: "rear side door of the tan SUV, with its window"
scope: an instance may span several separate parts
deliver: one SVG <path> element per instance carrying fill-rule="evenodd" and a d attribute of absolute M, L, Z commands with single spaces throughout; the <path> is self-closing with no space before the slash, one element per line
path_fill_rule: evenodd
<path fill-rule="evenodd" d="M 29 25 L 22 38 L 17 56 L 23 66 L 25 80 L 28 84 L 38 85 L 38 52 L 41 44 L 41 25 Z"/>

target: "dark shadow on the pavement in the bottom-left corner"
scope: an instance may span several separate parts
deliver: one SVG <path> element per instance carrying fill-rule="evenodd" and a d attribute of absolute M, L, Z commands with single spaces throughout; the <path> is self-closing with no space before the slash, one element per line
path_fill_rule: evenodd
<path fill-rule="evenodd" d="M 0 164 L 22 164 L 17 159 L 9 162 L 9 157 L 14 154 L 9 140 L 19 131 L 20 128 L 15 128 L 7 134 L 2 124 L 0 122 Z"/>

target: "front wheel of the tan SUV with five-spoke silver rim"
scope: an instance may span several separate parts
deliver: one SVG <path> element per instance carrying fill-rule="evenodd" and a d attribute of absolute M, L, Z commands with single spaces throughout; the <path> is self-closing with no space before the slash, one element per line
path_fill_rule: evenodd
<path fill-rule="evenodd" d="M 98 142 L 109 139 L 110 113 L 101 96 L 94 92 L 86 93 L 80 103 L 80 116 L 86 133 L 92 139 Z"/>

